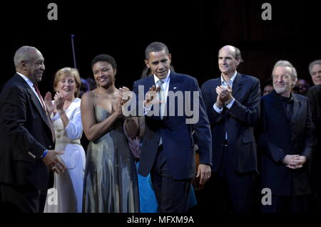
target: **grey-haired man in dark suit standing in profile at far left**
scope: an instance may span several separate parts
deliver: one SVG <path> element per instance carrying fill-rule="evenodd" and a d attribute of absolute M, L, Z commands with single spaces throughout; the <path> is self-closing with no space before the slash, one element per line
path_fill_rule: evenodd
<path fill-rule="evenodd" d="M 49 168 L 65 166 L 54 148 L 54 134 L 37 84 L 44 57 L 23 46 L 14 56 L 16 74 L 0 94 L 0 202 L 3 211 L 42 212 Z"/>

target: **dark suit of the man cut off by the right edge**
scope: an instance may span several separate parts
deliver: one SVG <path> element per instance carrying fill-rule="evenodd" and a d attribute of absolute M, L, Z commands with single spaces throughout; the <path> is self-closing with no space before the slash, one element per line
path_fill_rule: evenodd
<path fill-rule="evenodd" d="M 321 84 L 307 91 L 312 122 L 315 125 L 315 147 L 311 160 L 312 186 L 315 191 L 317 211 L 321 211 Z"/>

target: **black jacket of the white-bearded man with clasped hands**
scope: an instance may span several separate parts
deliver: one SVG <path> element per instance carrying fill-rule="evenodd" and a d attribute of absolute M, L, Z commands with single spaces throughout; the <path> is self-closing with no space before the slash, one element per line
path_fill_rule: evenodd
<path fill-rule="evenodd" d="M 306 162 L 301 169 L 289 169 L 282 164 L 286 154 L 301 154 L 311 159 L 313 125 L 307 97 L 293 95 L 292 117 L 289 119 L 280 95 L 275 91 L 261 100 L 259 146 L 262 150 L 262 187 L 270 188 L 274 196 L 310 194 L 310 179 Z"/>

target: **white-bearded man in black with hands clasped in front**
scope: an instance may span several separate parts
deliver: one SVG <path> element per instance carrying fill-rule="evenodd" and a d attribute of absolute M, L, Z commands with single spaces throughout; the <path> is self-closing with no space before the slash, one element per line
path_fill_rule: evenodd
<path fill-rule="evenodd" d="M 275 63 L 272 79 L 274 91 L 261 100 L 258 141 L 262 188 L 272 194 L 272 203 L 263 204 L 263 212 L 307 212 L 311 193 L 307 161 L 313 147 L 309 102 L 291 92 L 297 73 L 287 60 Z"/>

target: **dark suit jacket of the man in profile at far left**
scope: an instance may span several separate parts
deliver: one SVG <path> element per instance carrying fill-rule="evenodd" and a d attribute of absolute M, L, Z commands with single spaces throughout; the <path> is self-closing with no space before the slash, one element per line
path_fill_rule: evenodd
<path fill-rule="evenodd" d="M 46 189 L 49 168 L 40 157 L 54 142 L 41 103 L 18 74 L 1 90 L 0 144 L 1 183 Z"/>

